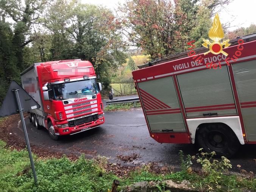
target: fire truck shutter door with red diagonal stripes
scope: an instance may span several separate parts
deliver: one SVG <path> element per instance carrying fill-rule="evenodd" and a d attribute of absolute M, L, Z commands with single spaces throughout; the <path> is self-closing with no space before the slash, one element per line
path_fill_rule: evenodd
<path fill-rule="evenodd" d="M 151 132 L 186 132 L 172 76 L 138 83 Z"/>

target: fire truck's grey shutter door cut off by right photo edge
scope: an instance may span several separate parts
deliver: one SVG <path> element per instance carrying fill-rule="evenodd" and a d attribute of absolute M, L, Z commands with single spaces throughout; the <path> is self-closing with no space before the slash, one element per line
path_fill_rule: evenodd
<path fill-rule="evenodd" d="M 256 141 L 256 60 L 233 64 L 248 141 Z"/>

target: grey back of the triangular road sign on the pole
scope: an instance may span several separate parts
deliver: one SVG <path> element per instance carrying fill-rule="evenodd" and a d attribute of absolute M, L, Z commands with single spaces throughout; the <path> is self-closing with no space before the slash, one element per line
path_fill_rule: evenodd
<path fill-rule="evenodd" d="M 3 101 L 3 105 L 0 109 L 0 117 L 19 113 L 19 111 L 17 111 L 18 106 L 15 94 L 12 91 L 13 89 L 19 89 L 18 93 L 23 112 L 40 108 L 40 105 L 30 95 L 28 95 L 27 92 L 16 81 L 11 81 L 10 87 L 5 96 L 5 100 Z"/>

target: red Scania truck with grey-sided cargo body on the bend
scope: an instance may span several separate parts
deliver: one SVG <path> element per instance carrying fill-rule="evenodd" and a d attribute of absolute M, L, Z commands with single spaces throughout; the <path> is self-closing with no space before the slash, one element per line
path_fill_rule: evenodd
<path fill-rule="evenodd" d="M 22 87 L 41 106 L 28 111 L 30 122 L 50 137 L 72 135 L 105 122 L 94 68 L 81 59 L 34 63 L 21 73 Z"/>

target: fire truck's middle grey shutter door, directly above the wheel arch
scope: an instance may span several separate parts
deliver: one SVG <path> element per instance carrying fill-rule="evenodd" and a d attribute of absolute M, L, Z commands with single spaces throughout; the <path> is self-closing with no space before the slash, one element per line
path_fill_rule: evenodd
<path fill-rule="evenodd" d="M 177 75 L 187 117 L 237 114 L 228 68 Z"/>

